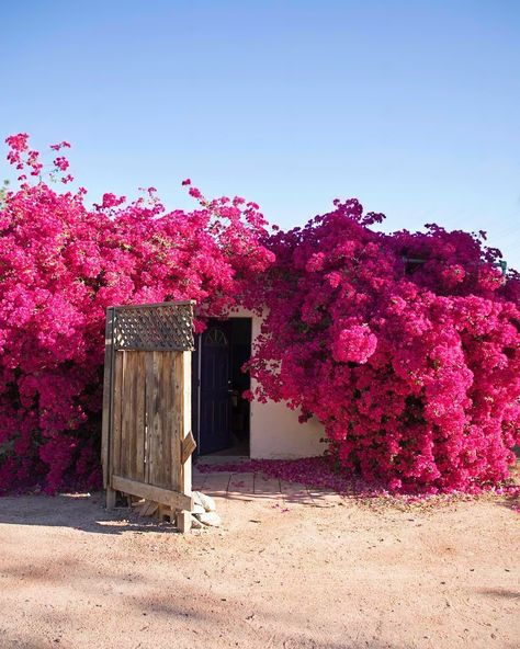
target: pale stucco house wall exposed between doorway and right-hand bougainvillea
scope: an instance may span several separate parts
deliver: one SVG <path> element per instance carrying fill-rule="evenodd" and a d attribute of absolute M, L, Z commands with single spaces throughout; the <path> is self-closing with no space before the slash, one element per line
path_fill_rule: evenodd
<path fill-rule="evenodd" d="M 240 309 L 233 316 L 252 319 L 252 344 L 260 333 L 261 318 Z M 233 317 L 231 316 L 231 317 Z M 255 380 L 251 382 L 255 388 Z M 324 428 L 316 420 L 298 422 L 298 411 L 290 410 L 285 403 L 251 403 L 250 456 L 256 459 L 284 459 L 321 455 L 326 445 L 319 440 L 325 436 Z"/>

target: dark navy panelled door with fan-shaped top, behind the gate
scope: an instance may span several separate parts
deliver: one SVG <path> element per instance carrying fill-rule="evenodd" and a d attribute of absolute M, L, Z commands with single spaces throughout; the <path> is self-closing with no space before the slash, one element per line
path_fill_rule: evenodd
<path fill-rule="evenodd" d="M 229 322 L 215 322 L 201 340 L 201 413 L 199 453 L 230 446 L 231 367 Z"/>

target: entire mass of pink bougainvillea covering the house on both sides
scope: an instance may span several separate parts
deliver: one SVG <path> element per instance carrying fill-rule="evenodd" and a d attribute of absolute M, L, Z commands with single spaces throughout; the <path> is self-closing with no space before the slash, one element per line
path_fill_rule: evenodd
<path fill-rule="evenodd" d="M 197 327 L 264 307 L 255 397 L 323 422 L 339 470 L 422 493 L 507 478 L 520 278 L 483 234 L 377 232 L 383 216 L 351 200 L 269 235 L 258 205 L 188 180 L 192 212 L 152 189 L 91 207 L 67 191 L 67 143 L 47 169 L 25 134 L 7 141 L 20 185 L 0 193 L 0 490 L 98 483 L 105 308 L 188 298 Z"/>

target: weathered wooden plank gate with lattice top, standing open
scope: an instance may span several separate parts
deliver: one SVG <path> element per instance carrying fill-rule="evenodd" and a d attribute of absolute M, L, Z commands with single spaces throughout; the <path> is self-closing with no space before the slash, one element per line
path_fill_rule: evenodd
<path fill-rule="evenodd" d="M 145 499 L 190 527 L 193 301 L 106 309 L 102 467 L 106 506 Z"/>

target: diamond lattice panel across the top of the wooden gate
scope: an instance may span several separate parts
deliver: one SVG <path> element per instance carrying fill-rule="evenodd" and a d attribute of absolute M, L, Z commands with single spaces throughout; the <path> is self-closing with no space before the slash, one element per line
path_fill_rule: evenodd
<path fill-rule="evenodd" d="M 114 345 L 116 350 L 193 351 L 193 303 L 115 307 Z"/>

